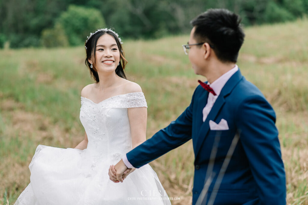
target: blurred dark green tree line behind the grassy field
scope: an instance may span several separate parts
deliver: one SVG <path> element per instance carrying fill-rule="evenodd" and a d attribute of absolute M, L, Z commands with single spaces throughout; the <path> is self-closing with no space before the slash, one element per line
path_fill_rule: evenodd
<path fill-rule="evenodd" d="M 248 26 L 302 17 L 308 0 L 0 0 L 0 48 L 81 45 L 105 27 L 122 38 L 187 34 L 209 8 L 229 9 Z"/>

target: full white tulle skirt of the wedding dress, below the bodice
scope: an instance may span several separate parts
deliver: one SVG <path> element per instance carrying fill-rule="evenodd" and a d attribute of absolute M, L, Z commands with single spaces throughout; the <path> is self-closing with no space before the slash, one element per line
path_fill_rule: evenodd
<path fill-rule="evenodd" d="M 29 165 L 30 184 L 15 204 L 171 204 L 148 164 L 123 183 L 112 182 L 108 169 L 118 161 L 95 156 L 87 149 L 39 145 Z"/>

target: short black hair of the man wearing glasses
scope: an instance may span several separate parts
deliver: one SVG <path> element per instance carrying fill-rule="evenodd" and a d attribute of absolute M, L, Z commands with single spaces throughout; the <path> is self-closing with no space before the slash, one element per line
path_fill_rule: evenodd
<path fill-rule="evenodd" d="M 245 34 L 241 18 L 226 9 L 209 9 L 190 23 L 196 27 L 194 38 L 213 46 L 217 58 L 222 62 L 236 62 Z"/>

